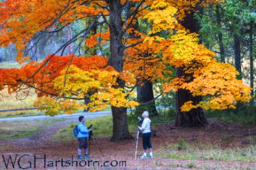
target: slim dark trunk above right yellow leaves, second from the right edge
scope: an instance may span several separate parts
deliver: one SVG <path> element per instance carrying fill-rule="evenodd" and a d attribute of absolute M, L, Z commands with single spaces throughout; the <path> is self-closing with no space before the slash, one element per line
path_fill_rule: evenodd
<path fill-rule="evenodd" d="M 237 79 L 242 79 L 242 69 L 241 69 L 241 47 L 239 36 L 234 34 L 234 52 L 235 52 L 235 66 L 236 70 L 239 72 Z"/>

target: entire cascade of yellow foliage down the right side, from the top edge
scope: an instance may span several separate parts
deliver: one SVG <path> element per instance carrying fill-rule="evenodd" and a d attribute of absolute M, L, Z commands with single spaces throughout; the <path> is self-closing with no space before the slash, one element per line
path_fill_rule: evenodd
<path fill-rule="evenodd" d="M 171 4 L 166 1 L 156 1 L 152 8 L 156 8 L 157 13 L 165 13 L 168 6 Z M 154 14 L 156 14 L 155 11 L 152 11 L 145 16 L 148 20 L 153 20 L 153 23 L 158 23 L 157 26 L 154 24 L 152 26 L 154 33 L 166 31 L 166 29 L 172 33 L 173 26 L 176 26 L 176 29 L 180 28 L 177 22 L 173 22 L 168 17 L 163 18 L 161 15 Z M 168 27 L 166 23 L 172 26 Z M 149 40 L 159 42 L 157 36 Z M 204 100 L 198 104 L 193 100 L 184 103 L 178 108 L 182 112 L 198 107 L 213 110 L 234 108 L 238 102 L 250 100 L 250 87 L 236 79 L 238 74 L 236 68 L 227 63 L 218 63 L 214 59 L 216 55 L 214 52 L 198 44 L 196 33 L 188 33 L 185 29 L 180 29 L 171 38 L 162 39 L 158 48 L 161 49 L 164 63 L 182 68 L 184 75 L 189 75 L 164 83 L 164 91 L 184 89 L 189 90 L 195 98 L 204 97 Z"/>

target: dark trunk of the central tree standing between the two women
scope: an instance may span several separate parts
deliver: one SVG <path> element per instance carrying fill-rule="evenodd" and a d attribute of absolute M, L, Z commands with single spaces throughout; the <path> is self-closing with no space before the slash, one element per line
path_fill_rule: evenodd
<path fill-rule="evenodd" d="M 120 1 L 108 1 L 109 4 L 109 24 L 110 24 L 110 51 L 111 58 L 109 65 L 116 71 L 122 72 L 124 65 L 124 44 L 123 22 L 122 22 L 122 4 Z M 124 88 L 125 82 L 118 79 L 118 85 L 115 88 Z M 111 106 L 113 115 L 113 136 L 111 140 L 131 139 L 132 136 L 128 130 L 127 108 Z"/>

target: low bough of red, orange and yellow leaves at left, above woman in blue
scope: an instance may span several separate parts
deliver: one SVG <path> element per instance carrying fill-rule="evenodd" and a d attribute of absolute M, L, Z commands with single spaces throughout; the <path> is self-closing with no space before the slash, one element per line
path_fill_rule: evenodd
<path fill-rule="evenodd" d="M 50 57 L 51 55 L 45 61 Z M 75 57 L 70 63 L 71 59 L 72 54 L 62 57 L 53 56 L 35 76 L 33 74 L 45 61 L 41 63 L 31 61 L 20 69 L 0 68 L 0 89 L 7 86 L 9 93 L 12 93 L 20 88 L 19 86 L 35 88 L 38 94 L 35 106 L 51 116 L 60 114 L 61 111 L 72 114 L 84 108 L 99 111 L 108 104 L 116 107 L 138 105 L 136 102 L 127 100 L 127 95 L 133 95 L 132 93 L 124 93 L 120 88 L 113 88 L 118 72 L 111 66 L 104 68 L 107 64 L 106 59 L 100 56 Z M 33 79 L 29 79 L 30 77 Z M 89 97 L 91 102 L 87 105 L 77 104 L 76 100 L 84 100 L 84 97 Z"/>

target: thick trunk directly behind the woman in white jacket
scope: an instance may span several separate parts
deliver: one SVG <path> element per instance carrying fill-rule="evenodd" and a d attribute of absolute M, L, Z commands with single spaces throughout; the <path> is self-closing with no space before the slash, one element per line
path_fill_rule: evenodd
<path fill-rule="evenodd" d="M 153 93 L 153 85 L 152 82 L 144 80 L 143 86 L 137 87 L 137 101 L 140 104 L 149 102 L 154 99 L 154 93 Z M 143 111 L 147 110 L 150 114 L 150 116 L 157 116 L 158 112 L 156 110 L 156 103 L 153 101 L 151 104 L 147 105 L 141 105 L 139 107 L 136 107 L 135 114 L 141 114 Z"/>

